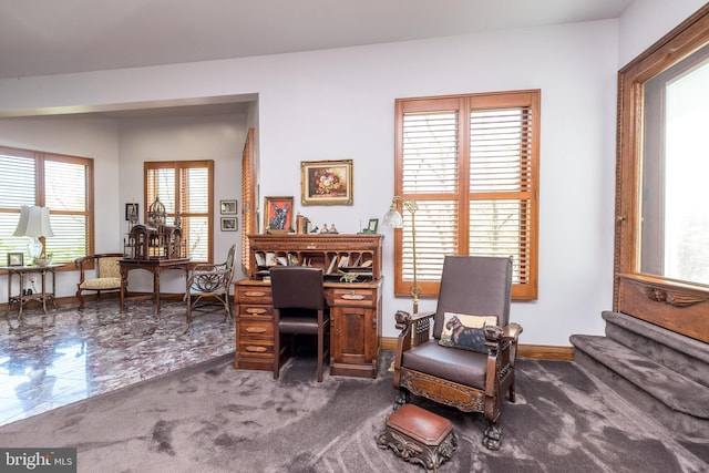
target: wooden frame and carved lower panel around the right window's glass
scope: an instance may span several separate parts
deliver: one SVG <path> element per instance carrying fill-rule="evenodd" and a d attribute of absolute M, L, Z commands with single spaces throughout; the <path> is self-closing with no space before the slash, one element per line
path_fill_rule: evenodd
<path fill-rule="evenodd" d="M 616 311 L 709 342 L 709 287 L 639 271 L 644 83 L 709 43 L 709 4 L 618 72 L 614 302 Z"/>

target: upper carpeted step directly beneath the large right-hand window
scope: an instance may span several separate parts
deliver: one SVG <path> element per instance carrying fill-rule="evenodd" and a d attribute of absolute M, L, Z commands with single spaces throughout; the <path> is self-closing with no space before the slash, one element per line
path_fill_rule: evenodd
<path fill-rule="evenodd" d="M 606 337 L 709 387 L 709 345 L 626 313 L 604 311 Z"/>

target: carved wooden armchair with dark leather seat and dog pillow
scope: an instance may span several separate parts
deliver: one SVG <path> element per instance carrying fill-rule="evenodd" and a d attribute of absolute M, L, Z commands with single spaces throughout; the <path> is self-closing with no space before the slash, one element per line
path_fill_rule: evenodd
<path fill-rule="evenodd" d="M 514 362 L 522 332 L 520 325 L 508 322 L 511 288 L 510 258 L 445 257 L 436 311 L 397 312 L 401 333 L 394 354 L 393 383 L 400 390 L 395 408 L 409 402 L 412 393 L 463 412 L 483 413 L 489 423 L 483 444 L 500 449 L 502 400 L 508 392 L 510 401 L 515 401 Z M 453 319 L 466 319 L 466 315 L 490 316 L 497 323 L 463 331 Z M 476 343 L 464 342 L 463 333 L 470 340 L 476 336 Z M 442 345 L 446 335 L 444 342 L 458 340 L 466 348 Z"/>

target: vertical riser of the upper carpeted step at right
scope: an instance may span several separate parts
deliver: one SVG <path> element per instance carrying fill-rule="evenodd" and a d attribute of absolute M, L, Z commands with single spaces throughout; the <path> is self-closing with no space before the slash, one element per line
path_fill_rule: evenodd
<path fill-rule="evenodd" d="M 709 364 L 606 320 L 606 337 L 709 388 Z"/>

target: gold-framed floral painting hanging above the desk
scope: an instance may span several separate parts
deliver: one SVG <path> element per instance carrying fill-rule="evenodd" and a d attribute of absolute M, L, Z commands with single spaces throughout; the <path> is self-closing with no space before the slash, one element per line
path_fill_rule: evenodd
<path fill-rule="evenodd" d="M 352 160 L 300 163 L 302 205 L 352 205 Z"/>

